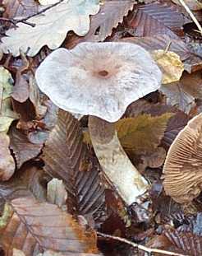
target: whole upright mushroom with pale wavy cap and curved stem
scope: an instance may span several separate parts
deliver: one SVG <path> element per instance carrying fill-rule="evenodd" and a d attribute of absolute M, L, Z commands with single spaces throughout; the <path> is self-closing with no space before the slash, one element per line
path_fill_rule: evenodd
<path fill-rule="evenodd" d="M 149 53 L 130 43 L 81 43 L 53 51 L 35 76 L 55 105 L 90 115 L 90 137 L 105 176 L 126 205 L 138 202 L 149 184 L 122 149 L 114 122 L 161 85 L 162 73 Z"/>

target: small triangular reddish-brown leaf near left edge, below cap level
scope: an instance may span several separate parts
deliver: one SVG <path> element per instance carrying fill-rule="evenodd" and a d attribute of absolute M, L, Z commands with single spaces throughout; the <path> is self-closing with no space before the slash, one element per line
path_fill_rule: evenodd
<path fill-rule="evenodd" d="M 38 156 L 43 147 L 43 142 L 39 142 L 39 144 L 31 143 L 28 137 L 14 126 L 9 131 L 9 137 L 11 139 L 10 147 L 16 158 L 18 169 L 25 161 Z"/>

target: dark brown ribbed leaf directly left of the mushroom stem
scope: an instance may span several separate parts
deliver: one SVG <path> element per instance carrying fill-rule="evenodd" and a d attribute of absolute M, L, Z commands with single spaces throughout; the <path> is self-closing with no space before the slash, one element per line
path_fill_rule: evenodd
<path fill-rule="evenodd" d="M 80 123 L 71 114 L 60 110 L 57 125 L 45 143 L 44 170 L 62 179 L 68 193 L 68 209 L 81 215 L 103 211 L 104 189 L 100 185 L 99 164 L 88 159 L 82 142 Z"/>

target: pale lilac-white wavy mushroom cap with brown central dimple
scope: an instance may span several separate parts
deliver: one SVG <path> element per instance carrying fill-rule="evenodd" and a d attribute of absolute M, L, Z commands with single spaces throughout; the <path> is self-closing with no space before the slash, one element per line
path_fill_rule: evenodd
<path fill-rule="evenodd" d="M 106 42 L 57 49 L 35 77 L 61 109 L 116 122 L 131 102 L 159 88 L 162 73 L 139 45 Z"/>

